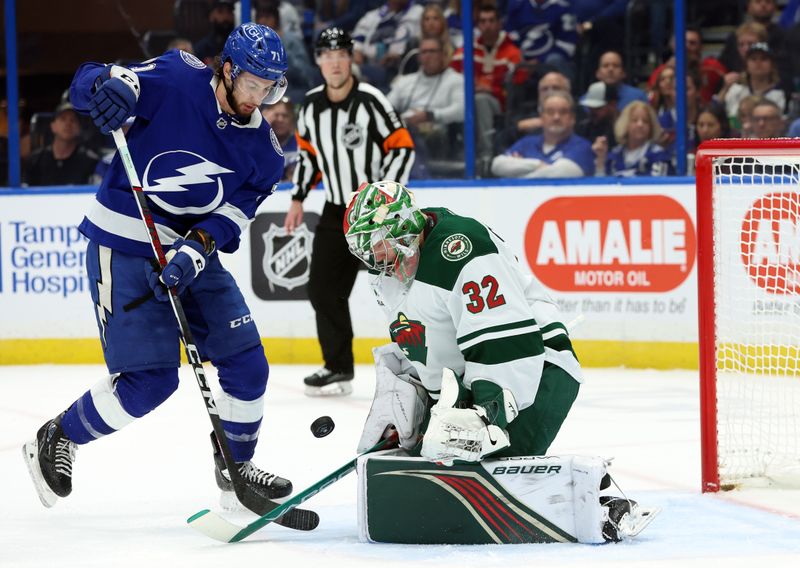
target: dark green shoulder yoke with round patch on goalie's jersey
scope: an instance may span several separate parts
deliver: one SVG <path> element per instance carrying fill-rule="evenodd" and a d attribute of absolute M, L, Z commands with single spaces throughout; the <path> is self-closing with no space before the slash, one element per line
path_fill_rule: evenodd
<path fill-rule="evenodd" d="M 451 290 L 468 262 L 497 253 L 488 228 L 479 221 L 461 217 L 448 209 L 424 209 L 436 216 L 436 226 L 425 239 L 416 279 Z"/>

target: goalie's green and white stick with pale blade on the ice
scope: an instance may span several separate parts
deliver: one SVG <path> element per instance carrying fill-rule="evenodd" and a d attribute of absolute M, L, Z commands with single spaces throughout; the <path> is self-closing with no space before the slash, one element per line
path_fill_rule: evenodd
<path fill-rule="evenodd" d="M 230 522 L 229 520 L 225 519 L 224 517 L 218 515 L 213 511 L 209 511 L 208 509 L 203 509 L 189 517 L 186 522 L 189 524 L 190 527 L 193 529 L 203 533 L 204 535 L 211 537 L 215 540 L 220 542 L 239 542 L 242 539 L 247 538 L 254 532 L 256 532 L 261 527 L 268 525 L 269 523 L 275 521 L 276 519 L 280 518 L 281 515 L 285 515 L 290 513 L 308 499 L 311 499 L 314 495 L 325 489 L 326 487 L 333 485 L 341 478 L 345 477 L 350 472 L 356 469 L 356 463 L 358 462 L 358 458 L 361 456 L 367 455 L 372 452 L 376 452 L 378 450 L 382 450 L 389 446 L 390 444 L 396 443 L 397 436 L 390 436 L 389 438 L 384 438 L 374 446 L 372 446 L 366 452 L 358 454 L 356 457 L 351 459 L 349 462 L 341 466 L 339 469 L 332 471 L 316 483 L 312 483 L 306 489 L 291 497 L 290 499 L 286 500 L 283 505 L 279 506 L 277 509 L 273 509 L 266 515 L 262 515 L 261 518 L 256 519 L 252 523 L 247 526 L 239 526 Z"/>

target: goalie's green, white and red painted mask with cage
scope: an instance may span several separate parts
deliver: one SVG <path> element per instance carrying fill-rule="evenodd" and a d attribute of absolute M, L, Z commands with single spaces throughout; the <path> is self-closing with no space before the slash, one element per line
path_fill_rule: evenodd
<path fill-rule="evenodd" d="M 350 198 L 344 214 L 347 245 L 377 273 L 376 291 L 384 303 L 413 282 L 424 228 L 425 215 L 402 184 L 362 183 Z"/>

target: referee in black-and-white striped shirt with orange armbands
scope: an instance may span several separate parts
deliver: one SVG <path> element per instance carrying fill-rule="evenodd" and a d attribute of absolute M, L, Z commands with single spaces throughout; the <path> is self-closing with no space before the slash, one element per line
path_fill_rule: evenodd
<path fill-rule="evenodd" d="M 348 298 L 360 261 L 347 248 L 344 210 L 362 182 L 407 183 L 414 143 L 383 93 L 352 75 L 353 40 L 346 31 L 323 31 L 315 52 L 325 83 L 306 93 L 298 115 L 300 158 L 284 226 L 291 233 L 303 222 L 303 199 L 322 181 L 326 202 L 315 229 L 308 297 L 325 366 L 304 382 L 312 396 L 346 395 L 353 380 Z"/>

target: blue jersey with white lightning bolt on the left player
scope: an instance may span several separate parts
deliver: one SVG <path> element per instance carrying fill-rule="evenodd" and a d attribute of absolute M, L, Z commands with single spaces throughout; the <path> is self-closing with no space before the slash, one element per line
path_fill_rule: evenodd
<path fill-rule="evenodd" d="M 87 112 L 103 67 L 85 63 L 76 72 L 70 98 L 77 110 Z M 173 50 L 130 69 L 139 77 L 141 94 L 128 147 L 162 243 L 199 228 L 219 250 L 235 251 L 283 171 L 277 137 L 258 110 L 247 123 L 225 113 L 214 93 L 213 70 L 193 55 Z M 118 156 L 80 230 L 111 249 L 152 256 Z"/>

